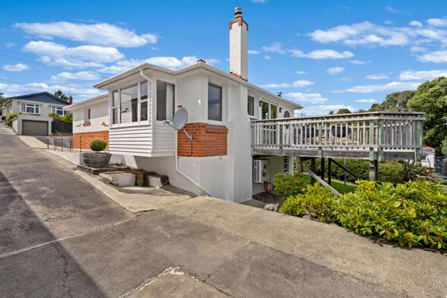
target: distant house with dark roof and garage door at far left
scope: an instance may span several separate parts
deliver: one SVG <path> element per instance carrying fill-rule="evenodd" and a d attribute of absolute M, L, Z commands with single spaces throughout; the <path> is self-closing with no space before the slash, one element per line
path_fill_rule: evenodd
<path fill-rule="evenodd" d="M 71 101 L 65 101 L 49 92 L 25 94 L 9 97 L 3 104 L 2 115 L 8 117 L 9 113 L 18 113 L 13 120 L 13 129 L 17 134 L 28 136 L 48 136 L 51 134 L 51 112 L 65 115 L 65 106 Z"/>

